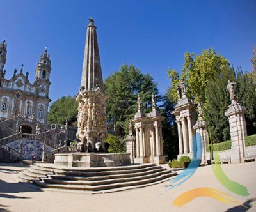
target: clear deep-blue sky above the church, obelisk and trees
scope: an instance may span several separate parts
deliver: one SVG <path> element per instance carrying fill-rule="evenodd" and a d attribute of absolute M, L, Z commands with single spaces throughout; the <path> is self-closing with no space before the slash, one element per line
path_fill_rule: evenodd
<path fill-rule="evenodd" d="M 124 63 L 150 73 L 161 93 L 168 67 L 180 72 L 185 52 L 214 48 L 234 67 L 251 71 L 256 45 L 256 1 L 1 0 L 0 39 L 6 36 L 6 77 L 13 70 L 35 80 L 40 54 L 51 54 L 54 101 L 76 95 L 88 18 L 97 26 L 103 77 Z"/>

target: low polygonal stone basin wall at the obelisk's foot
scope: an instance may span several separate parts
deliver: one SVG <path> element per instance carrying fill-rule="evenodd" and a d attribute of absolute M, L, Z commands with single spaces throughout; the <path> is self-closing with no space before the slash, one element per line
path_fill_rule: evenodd
<path fill-rule="evenodd" d="M 129 153 L 60 153 L 54 165 L 67 167 L 116 167 L 131 165 Z"/>

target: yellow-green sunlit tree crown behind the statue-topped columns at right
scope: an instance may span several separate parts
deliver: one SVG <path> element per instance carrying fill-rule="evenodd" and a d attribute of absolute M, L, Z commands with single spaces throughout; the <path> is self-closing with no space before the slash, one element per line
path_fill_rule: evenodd
<path fill-rule="evenodd" d="M 230 64 L 220 53 L 216 54 L 214 49 L 206 49 L 202 54 L 186 52 L 181 77 L 188 85 L 188 97 L 197 103 L 201 100 L 205 103 L 205 89 L 210 81 L 220 77 L 223 70 L 227 70 Z M 168 70 L 168 76 L 172 78 L 172 93 L 177 99 L 176 88 L 179 83 L 179 75 L 175 70 Z M 175 94 L 175 95 L 174 95 Z"/>

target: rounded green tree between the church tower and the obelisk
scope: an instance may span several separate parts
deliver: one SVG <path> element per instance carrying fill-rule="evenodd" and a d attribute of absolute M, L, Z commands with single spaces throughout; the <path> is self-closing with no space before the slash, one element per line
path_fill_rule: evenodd
<path fill-rule="evenodd" d="M 48 122 L 65 125 L 67 119 L 69 125 L 77 125 L 77 106 L 74 97 L 62 96 L 50 106 Z"/>

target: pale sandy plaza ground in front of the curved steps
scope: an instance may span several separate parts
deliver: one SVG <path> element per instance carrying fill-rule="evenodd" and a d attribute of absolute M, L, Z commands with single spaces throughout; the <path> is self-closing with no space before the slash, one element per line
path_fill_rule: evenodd
<path fill-rule="evenodd" d="M 166 167 L 166 165 L 164 165 Z M 222 165 L 225 174 L 248 188 L 250 195 L 241 197 L 225 188 L 212 172 L 211 165 L 200 167 L 182 185 L 161 194 L 168 181 L 154 186 L 116 193 L 88 194 L 46 190 L 31 183 L 17 181 L 16 173 L 26 168 L 19 163 L 0 163 L 0 211 L 247 211 L 209 197 L 198 197 L 178 208 L 173 200 L 193 188 L 209 187 L 227 193 L 236 201 L 248 203 L 256 211 L 256 162 Z M 180 170 L 179 172 L 181 172 Z M 160 195 L 161 194 L 161 195 Z"/>

